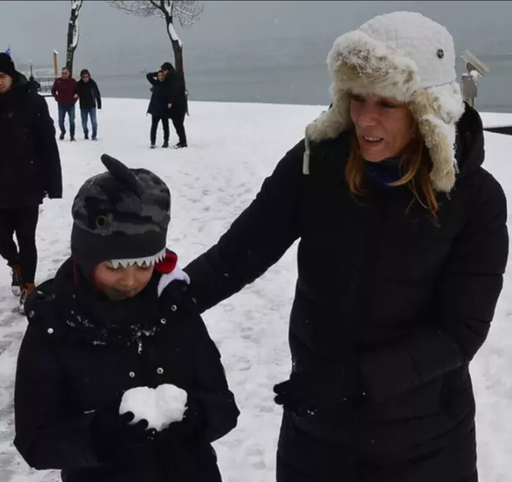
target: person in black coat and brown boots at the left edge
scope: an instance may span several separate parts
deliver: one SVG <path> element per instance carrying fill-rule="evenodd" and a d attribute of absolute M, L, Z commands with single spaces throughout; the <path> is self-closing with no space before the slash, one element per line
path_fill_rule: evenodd
<path fill-rule="evenodd" d="M 62 197 L 60 156 L 46 100 L 0 53 L 0 255 L 23 303 L 34 289 L 36 228 L 43 198 Z M 13 236 L 16 235 L 17 246 Z"/>

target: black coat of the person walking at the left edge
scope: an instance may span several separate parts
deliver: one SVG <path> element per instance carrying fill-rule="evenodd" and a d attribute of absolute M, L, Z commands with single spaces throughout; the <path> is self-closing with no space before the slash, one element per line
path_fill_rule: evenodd
<path fill-rule="evenodd" d="M 60 155 L 48 104 L 21 74 L 0 94 L 0 209 L 62 198 Z"/>

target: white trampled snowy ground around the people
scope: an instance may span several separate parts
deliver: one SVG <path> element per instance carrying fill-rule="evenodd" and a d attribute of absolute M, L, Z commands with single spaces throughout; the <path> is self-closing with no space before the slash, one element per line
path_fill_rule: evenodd
<path fill-rule="evenodd" d="M 49 100 L 55 113 L 53 101 Z M 97 143 L 60 143 L 65 199 L 42 206 L 38 228 L 40 282 L 69 255 L 70 206 L 80 184 L 102 169 L 103 152 L 132 167 L 144 166 L 166 180 L 173 193 L 168 246 L 181 264 L 215 243 L 251 201 L 276 162 L 302 136 L 319 107 L 191 103 L 190 147 L 148 149 L 150 120 L 145 101 L 104 101 Z M 487 116 L 492 120 L 493 116 Z M 78 125 L 77 125 L 78 127 Z M 80 132 L 80 129 L 77 129 Z M 486 134 L 486 165 L 512 200 L 512 138 Z M 174 139 L 172 139 L 174 141 Z M 274 480 L 281 411 L 272 386 L 289 370 L 287 320 L 296 276 L 295 249 L 262 279 L 205 316 L 219 343 L 242 415 L 236 430 L 217 444 L 226 482 Z M 0 263 L 1 264 L 1 263 Z M 512 283 L 507 275 L 493 330 L 473 364 L 478 397 L 481 479 L 509 482 L 512 468 Z M 26 321 L 11 313 L 9 271 L 0 266 L 0 480 L 54 482 L 56 473 L 31 471 L 12 447 L 15 362 Z"/>

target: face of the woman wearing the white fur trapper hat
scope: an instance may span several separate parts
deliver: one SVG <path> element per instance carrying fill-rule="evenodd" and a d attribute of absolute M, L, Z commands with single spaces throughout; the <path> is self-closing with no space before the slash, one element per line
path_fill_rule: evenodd
<path fill-rule="evenodd" d="M 375 94 L 352 95 L 350 116 L 361 155 L 367 161 L 393 158 L 413 136 L 413 117 L 406 103 Z"/>

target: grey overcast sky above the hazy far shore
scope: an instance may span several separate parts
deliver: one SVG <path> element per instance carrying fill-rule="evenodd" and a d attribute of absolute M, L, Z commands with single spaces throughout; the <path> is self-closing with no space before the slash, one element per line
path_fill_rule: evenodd
<path fill-rule="evenodd" d="M 419 11 L 440 21 L 464 48 L 512 52 L 512 33 L 508 33 L 512 2 L 508 1 L 204 0 L 203 4 L 199 23 L 179 29 L 179 34 L 185 53 L 199 51 L 204 57 L 213 49 L 240 49 L 244 42 L 264 39 L 331 42 L 374 15 L 397 9 Z M 50 63 L 53 49 L 63 59 L 69 9 L 67 0 L 0 0 L 0 50 L 10 45 L 20 62 Z M 169 49 L 162 19 L 126 15 L 99 0 L 86 0 L 79 23 L 77 60 L 82 63 L 115 62 L 121 68 L 131 62 L 131 52 L 140 58 Z"/>

